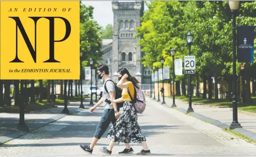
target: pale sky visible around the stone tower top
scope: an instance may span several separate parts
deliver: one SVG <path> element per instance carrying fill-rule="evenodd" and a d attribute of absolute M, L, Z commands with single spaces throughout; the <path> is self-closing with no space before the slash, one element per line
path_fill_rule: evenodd
<path fill-rule="evenodd" d="M 120 1 L 120 0 L 119 0 Z M 122 2 L 129 2 L 123 1 Z M 131 1 L 130 1 L 131 2 Z M 114 15 L 112 11 L 112 0 L 93 1 L 85 0 L 82 1 L 85 5 L 91 5 L 94 7 L 93 18 L 102 27 L 106 27 L 108 24 L 113 25 Z M 144 4 L 144 10 L 148 10 L 148 7 Z"/>

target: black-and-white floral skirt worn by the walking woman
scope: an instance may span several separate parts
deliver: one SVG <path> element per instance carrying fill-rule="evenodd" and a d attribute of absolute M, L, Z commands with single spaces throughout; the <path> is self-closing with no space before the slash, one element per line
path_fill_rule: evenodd
<path fill-rule="evenodd" d="M 137 113 L 130 101 L 124 101 L 123 114 L 109 129 L 107 138 L 119 143 L 138 143 L 146 141 L 137 123 Z"/>

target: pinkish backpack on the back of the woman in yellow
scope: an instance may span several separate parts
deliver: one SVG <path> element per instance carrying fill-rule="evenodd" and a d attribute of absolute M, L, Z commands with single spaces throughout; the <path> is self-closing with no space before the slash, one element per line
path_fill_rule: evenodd
<path fill-rule="evenodd" d="M 127 92 L 135 106 L 136 113 L 142 114 L 146 108 L 145 95 L 141 89 L 138 89 L 135 86 L 134 86 L 134 89 L 135 89 L 135 92 L 134 92 L 135 100 L 133 100 L 133 97 L 131 96 L 131 93 L 128 88 L 127 88 Z"/>

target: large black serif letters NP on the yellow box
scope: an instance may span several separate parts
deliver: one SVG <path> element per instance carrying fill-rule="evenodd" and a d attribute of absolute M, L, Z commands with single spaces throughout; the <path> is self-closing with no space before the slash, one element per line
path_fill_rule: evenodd
<path fill-rule="evenodd" d="M 60 62 L 58 60 L 56 60 L 54 58 L 54 43 L 55 42 L 63 42 L 65 41 L 66 39 L 68 39 L 69 35 L 70 35 L 70 32 L 71 32 L 71 26 L 70 26 L 70 23 L 69 21 L 64 18 L 64 17 L 57 17 L 57 16 L 52 16 L 52 17 L 45 17 L 45 16 L 39 16 L 39 17 L 28 17 L 28 18 L 31 18 L 33 21 L 34 21 L 34 48 L 29 40 L 29 37 L 19 19 L 19 17 L 14 17 L 14 16 L 9 16 L 9 18 L 12 18 L 15 20 L 16 22 L 16 57 L 14 58 L 14 60 L 10 61 L 12 63 L 20 63 L 20 62 L 23 62 L 22 60 L 20 60 L 18 58 L 18 29 L 20 30 L 20 33 L 29 49 L 29 52 L 31 54 L 31 57 L 33 58 L 34 60 L 34 63 L 36 63 L 36 23 L 37 21 L 40 19 L 40 18 L 46 18 L 49 20 L 49 28 L 50 28 L 50 36 L 49 36 L 49 43 L 50 43 L 50 49 L 49 49 L 49 59 L 44 61 L 44 62 L 48 62 L 48 63 L 56 63 L 56 62 Z M 65 36 L 62 40 L 58 40 L 58 41 L 55 41 L 54 40 L 54 19 L 55 18 L 59 18 L 59 19 L 62 19 L 64 22 L 65 22 L 65 25 L 66 25 L 66 33 L 65 33 Z"/>

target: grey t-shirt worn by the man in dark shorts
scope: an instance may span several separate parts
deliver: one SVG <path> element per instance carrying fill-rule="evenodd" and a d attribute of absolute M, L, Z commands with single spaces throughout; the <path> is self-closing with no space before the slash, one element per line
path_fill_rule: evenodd
<path fill-rule="evenodd" d="M 110 78 L 108 78 L 107 80 L 112 80 Z M 105 99 L 108 99 L 110 100 L 110 95 L 109 95 L 109 92 L 114 92 L 115 93 L 115 97 L 116 97 L 116 88 L 115 88 L 115 85 L 113 82 L 111 81 L 105 81 L 104 84 L 103 84 L 103 93 L 102 93 L 102 99 L 103 99 L 103 106 L 105 109 L 113 109 L 113 104 L 108 104 L 107 102 L 105 102 Z M 106 88 L 107 88 L 107 91 L 105 90 L 105 85 L 106 85 Z"/>

